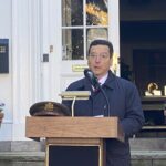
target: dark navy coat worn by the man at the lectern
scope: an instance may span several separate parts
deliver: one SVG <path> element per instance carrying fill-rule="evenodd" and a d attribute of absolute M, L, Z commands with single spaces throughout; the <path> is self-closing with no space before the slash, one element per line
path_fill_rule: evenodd
<path fill-rule="evenodd" d="M 117 139 L 106 139 L 106 166 L 129 166 L 131 153 L 128 137 L 136 134 L 144 124 L 144 114 L 136 86 L 108 71 L 108 77 L 102 85 L 110 102 L 110 115 L 118 116 L 125 133 L 125 143 Z M 66 91 L 91 91 L 87 101 L 76 101 L 75 116 L 107 116 L 107 104 L 103 93 L 93 92 L 86 77 L 73 82 Z M 72 101 L 63 101 L 71 108 Z"/>

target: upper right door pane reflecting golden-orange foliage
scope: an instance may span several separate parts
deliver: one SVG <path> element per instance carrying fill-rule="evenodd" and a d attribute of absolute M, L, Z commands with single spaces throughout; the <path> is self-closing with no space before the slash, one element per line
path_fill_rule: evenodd
<path fill-rule="evenodd" d="M 86 0 L 86 24 L 107 25 L 107 0 Z"/>

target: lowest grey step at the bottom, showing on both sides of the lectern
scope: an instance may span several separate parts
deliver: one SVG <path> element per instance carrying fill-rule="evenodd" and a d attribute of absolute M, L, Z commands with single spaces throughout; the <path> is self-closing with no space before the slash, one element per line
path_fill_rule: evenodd
<path fill-rule="evenodd" d="M 0 152 L 0 166 L 44 166 L 44 152 Z M 165 166 L 166 151 L 132 151 L 132 166 Z"/>

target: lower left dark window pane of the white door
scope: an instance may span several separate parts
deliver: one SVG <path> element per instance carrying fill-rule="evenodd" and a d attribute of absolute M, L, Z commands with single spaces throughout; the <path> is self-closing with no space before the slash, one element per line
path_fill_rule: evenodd
<path fill-rule="evenodd" d="M 62 30 L 62 60 L 83 60 L 83 30 L 65 29 Z"/>

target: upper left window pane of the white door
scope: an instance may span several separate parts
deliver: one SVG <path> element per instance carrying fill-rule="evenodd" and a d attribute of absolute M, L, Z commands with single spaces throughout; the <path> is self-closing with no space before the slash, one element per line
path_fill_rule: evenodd
<path fill-rule="evenodd" d="M 83 0 L 62 0 L 62 25 L 83 25 Z"/>

